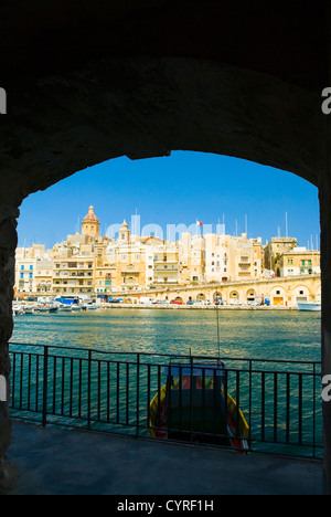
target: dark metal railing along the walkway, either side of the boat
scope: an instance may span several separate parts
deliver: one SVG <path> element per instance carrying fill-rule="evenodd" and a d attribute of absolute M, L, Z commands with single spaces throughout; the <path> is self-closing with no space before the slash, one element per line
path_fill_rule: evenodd
<path fill-rule="evenodd" d="M 167 382 L 167 366 L 217 365 L 212 357 L 14 342 L 10 357 L 12 418 L 136 437 L 150 436 L 150 401 Z M 322 457 L 320 362 L 226 358 L 225 367 L 250 452 Z"/>

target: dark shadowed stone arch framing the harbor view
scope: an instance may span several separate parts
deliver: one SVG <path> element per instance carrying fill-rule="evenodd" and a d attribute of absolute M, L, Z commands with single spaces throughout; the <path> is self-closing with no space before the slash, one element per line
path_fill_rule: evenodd
<path fill-rule="evenodd" d="M 328 350 L 331 171 L 330 133 L 321 114 L 330 62 L 327 2 L 303 2 L 300 10 L 295 2 L 286 7 L 277 2 L 271 17 L 261 1 L 243 2 L 241 10 L 236 2 L 218 2 L 205 13 L 201 2 L 192 0 L 192 17 L 184 27 L 161 0 L 152 8 L 142 0 L 135 6 L 119 2 L 120 8 L 97 1 L 94 9 L 85 2 L 72 14 L 61 6 L 50 8 L 52 25 L 44 12 L 40 19 L 33 17 L 33 38 L 29 36 L 30 3 L 21 2 L 25 24 L 17 23 L 18 14 L 9 3 L 3 6 L 6 27 L 0 34 L 2 76 L 14 84 L 12 95 L 8 92 L 9 104 L 14 97 L 14 119 L 8 117 L 0 127 L 0 371 L 7 377 L 10 372 L 7 344 L 12 334 L 15 219 L 22 200 L 107 159 L 168 156 L 172 149 L 236 156 L 295 172 L 319 186 L 322 347 Z M 179 1 L 179 12 L 185 8 Z M 105 31 L 109 22 L 111 30 Z M 85 38 L 87 25 L 89 39 Z M 238 28 L 241 38 L 235 38 Z M 46 60 L 43 45 L 35 45 L 45 33 L 51 49 Z M 150 57 L 137 57 L 141 55 Z M 330 355 L 323 354 L 323 372 L 331 373 Z M 0 411 L 8 422 L 8 410 Z M 8 443 L 7 428 L 2 434 Z M 328 404 L 324 429 L 325 486 L 331 493 Z M 1 454 L 6 447 L 0 447 Z"/>

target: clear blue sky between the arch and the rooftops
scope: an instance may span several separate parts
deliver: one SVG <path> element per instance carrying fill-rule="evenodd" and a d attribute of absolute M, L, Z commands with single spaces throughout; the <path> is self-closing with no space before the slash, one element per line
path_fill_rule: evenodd
<path fill-rule="evenodd" d="M 21 205 L 19 245 L 54 243 L 75 233 L 95 207 L 102 233 L 108 225 L 131 220 L 141 226 L 217 224 L 227 234 L 244 233 L 263 242 L 286 234 L 300 245 L 319 243 L 318 189 L 297 176 L 254 162 L 201 152 L 173 152 L 168 158 L 131 161 L 118 158 L 85 169 Z M 79 219 L 78 219 L 79 218 Z M 278 230 L 279 229 L 279 230 Z"/>

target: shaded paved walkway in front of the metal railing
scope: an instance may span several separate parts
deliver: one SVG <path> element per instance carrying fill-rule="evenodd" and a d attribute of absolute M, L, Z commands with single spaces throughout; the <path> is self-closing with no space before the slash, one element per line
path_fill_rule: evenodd
<path fill-rule="evenodd" d="M 14 423 L 10 495 L 321 495 L 320 463 Z"/>

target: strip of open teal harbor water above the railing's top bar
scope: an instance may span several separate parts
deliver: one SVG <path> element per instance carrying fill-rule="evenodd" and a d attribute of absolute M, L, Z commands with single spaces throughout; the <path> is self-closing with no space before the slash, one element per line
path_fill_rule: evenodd
<path fill-rule="evenodd" d="M 218 310 L 221 357 L 320 361 L 320 313 Z M 99 309 L 17 316 L 12 341 L 115 352 L 218 354 L 216 310 Z"/>

